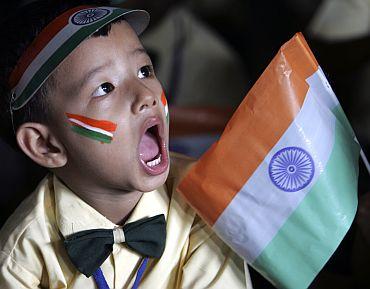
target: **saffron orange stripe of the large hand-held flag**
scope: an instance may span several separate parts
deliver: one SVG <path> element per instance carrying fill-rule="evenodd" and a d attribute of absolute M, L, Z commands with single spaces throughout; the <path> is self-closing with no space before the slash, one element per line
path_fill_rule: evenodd
<path fill-rule="evenodd" d="M 229 121 L 220 140 L 192 168 L 192 177 L 180 184 L 184 197 L 202 212 L 209 225 L 214 225 L 301 110 L 309 88 L 305 79 L 318 69 L 314 58 L 301 57 L 302 49 L 312 56 L 301 34 L 281 48 Z M 230 174 L 233 184 L 228 181 Z"/>

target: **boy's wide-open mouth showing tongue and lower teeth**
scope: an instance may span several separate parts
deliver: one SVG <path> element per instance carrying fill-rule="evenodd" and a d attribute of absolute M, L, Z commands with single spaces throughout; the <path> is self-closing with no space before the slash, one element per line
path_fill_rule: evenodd
<path fill-rule="evenodd" d="M 168 167 L 167 149 L 162 135 L 161 123 L 156 118 L 149 119 L 139 143 L 139 158 L 144 170 L 150 175 L 159 175 Z"/>

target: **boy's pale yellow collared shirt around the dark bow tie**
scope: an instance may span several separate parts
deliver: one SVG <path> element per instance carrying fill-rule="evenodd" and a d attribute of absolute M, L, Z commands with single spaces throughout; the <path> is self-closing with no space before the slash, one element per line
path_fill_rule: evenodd
<path fill-rule="evenodd" d="M 242 260 L 175 190 L 190 162 L 174 155 L 171 162 L 166 184 L 143 194 L 127 220 L 157 214 L 167 220 L 164 253 L 159 260 L 149 261 L 139 288 L 247 288 L 249 275 L 244 275 Z M 86 278 L 70 262 L 63 237 L 114 227 L 56 176 L 47 176 L 0 232 L 0 288 L 97 288 L 92 277 Z M 131 288 L 141 261 L 125 245 L 114 244 L 101 266 L 109 287 Z"/>

